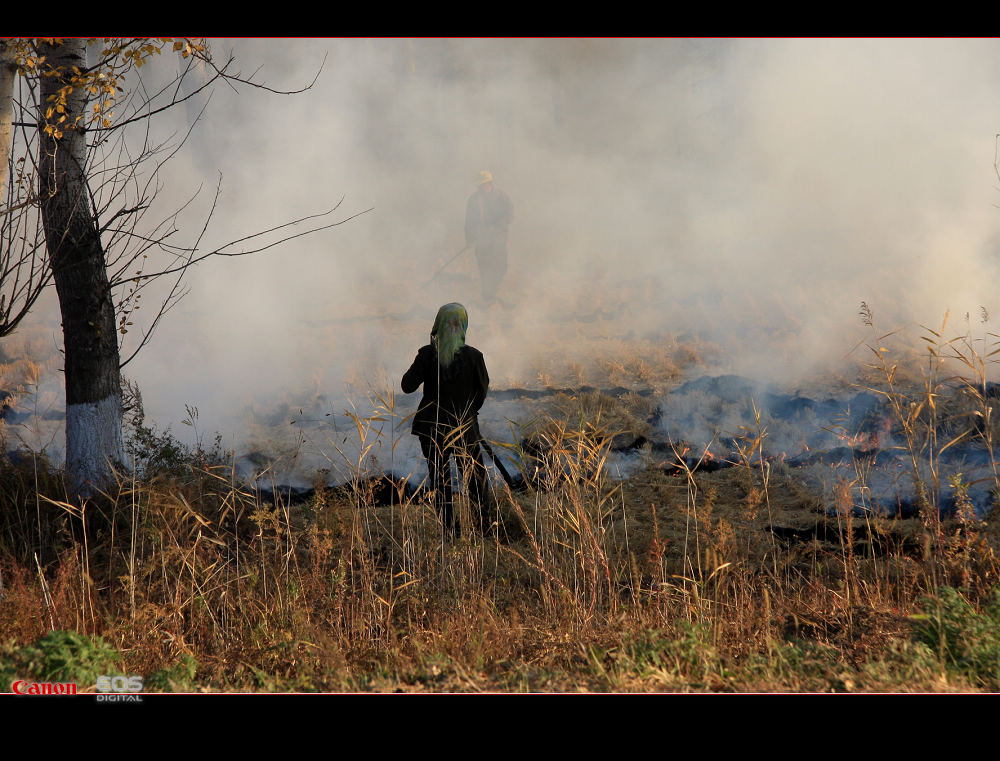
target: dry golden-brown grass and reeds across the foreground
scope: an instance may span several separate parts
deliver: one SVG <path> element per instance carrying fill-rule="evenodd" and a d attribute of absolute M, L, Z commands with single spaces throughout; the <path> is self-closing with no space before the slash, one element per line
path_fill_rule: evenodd
<path fill-rule="evenodd" d="M 595 386 L 669 384 L 680 350 L 665 351 L 611 351 L 593 376 L 568 358 L 565 372 Z M 898 395 L 897 425 L 918 447 L 930 429 L 909 401 L 934 398 L 937 382 L 881 371 L 868 385 Z M 995 422 L 969 388 L 961 414 Z M 528 430 L 533 487 L 494 485 L 500 520 L 486 536 L 461 503 L 457 541 L 419 493 L 375 504 L 365 488 L 318 484 L 291 504 L 224 464 L 186 462 L 123 477 L 81 514 L 58 479 L 36 485 L 37 469 L 5 465 L 0 643 L 13 652 L 53 629 L 100 635 L 124 673 L 156 689 L 990 688 L 916 642 L 912 616 L 944 586 L 978 605 L 1000 584 L 995 520 L 830 509 L 794 469 L 760 458 L 767 439 L 752 420 L 734 467 L 647 452 L 616 481 L 603 465 L 616 442 L 646 432 L 645 400 L 556 398 Z M 843 484 L 841 507 L 857 487 Z"/>

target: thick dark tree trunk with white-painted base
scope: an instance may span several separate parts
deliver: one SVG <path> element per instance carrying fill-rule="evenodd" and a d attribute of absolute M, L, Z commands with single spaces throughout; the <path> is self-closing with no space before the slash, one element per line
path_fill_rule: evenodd
<path fill-rule="evenodd" d="M 86 90 L 66 95 L 61 137 L 44 129 L 50 97 L 69 84 L 74 66 L 86 67 L 86 44 L 67 39 L 39 52 L 59 73 L 41 79 L 39 191 L 66 351 L 66 471 L 72 495 L 87 498 L 124 461 L 118 333 L 87 186 L 86 135 L 74 127 L 82 125 Z"/>

